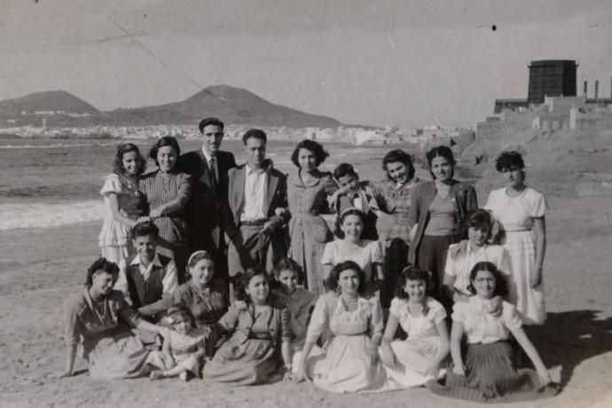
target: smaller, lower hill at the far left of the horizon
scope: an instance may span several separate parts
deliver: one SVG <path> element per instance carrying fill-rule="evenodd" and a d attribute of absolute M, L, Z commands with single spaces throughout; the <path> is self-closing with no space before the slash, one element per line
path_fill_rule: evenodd
<path fill-rule="evenodd" d="M 76 98 L 65 90 L 36 92 L 25 97 L 0 101 L 0 113 L 21 115 L 22 112 L 62 111 L 67 114 L 98 114 L 99 111 L 84 100 Z"/>

